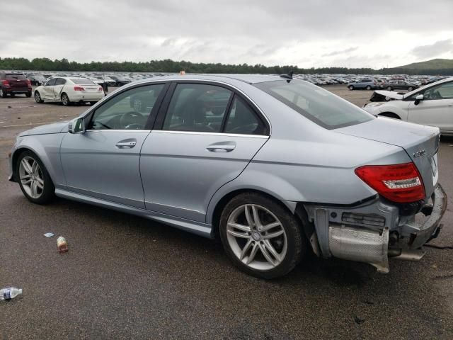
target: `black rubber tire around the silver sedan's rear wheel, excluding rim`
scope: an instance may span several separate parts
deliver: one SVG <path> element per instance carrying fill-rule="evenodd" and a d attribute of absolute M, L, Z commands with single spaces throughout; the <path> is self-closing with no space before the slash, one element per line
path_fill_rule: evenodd
<path fill-rule="evenodd" d="M 272 212 L 272 214 L 275 215 L 275 217 L 277 217 L 277 220 L 280 222 L 279 227 L 282 227 L 285 231 L 285 241 L 287 244 L 285 256 L 283 259 L 280 259 L 280 263 L 273 268 L 266 270 L 251 268 L 251 266 L 243 263 L 243 261 L 245 261 L 245 258 L 243 261 L 241 261 L 230 246 L 226 231 L 229 217 L 233 216 L 235 211 L 241 209 L 241 207 L 246 204 L 257 205 Z M 283 205 L 277 203 L 277 201 L 273 200 L 272 198 L 268 198 L 267 196 L 260 195 L 259 193 L 241 193 L 240 195 L 232 198 L 229 203 L 226 204 L 220 217 L 219 234 L 226 255 L 234 263 L 234 265 L 241 271 L 248 273 L 251 276 L 256 276 L 257 278 L 270 279 L 286 275 L 287 273 L 292 271 L 297 263 L 302 260 L 302 257 L 306 251 L 306 239 L 302 234 L 301 226 L 299 225 L 296 217 L 292 215 L 292 213 L 290 213 Z M 250 234 L 252 235 L 253 232 L 250 232 Z M 263 234 L 263 232 L 261 232 L 261 234 Z M 263 240 L 260 241 L 253 241 L 253 239 L 250 240 L 252 244 L 265 241 L 264 237 Z M 256 256 L 258 256 L 258 250 L 256 254 L 257 255 L 255 255 L 255 258 Z M 263 256 L 262 252 L 260 252 L 260 256 Z M 265 261 L 263 263 L 265 263 Z"/>

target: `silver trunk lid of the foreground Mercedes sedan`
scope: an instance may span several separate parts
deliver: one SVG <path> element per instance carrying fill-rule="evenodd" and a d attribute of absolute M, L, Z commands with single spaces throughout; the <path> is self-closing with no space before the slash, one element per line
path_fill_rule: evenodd
<path fill-rule="evenodd" d="M 438 179 L 437 149 L 440 137 L 438 128 L 379 117 L 335 131 L 402 147 L 422 176 L 427 198 L 434 192 Z"/>

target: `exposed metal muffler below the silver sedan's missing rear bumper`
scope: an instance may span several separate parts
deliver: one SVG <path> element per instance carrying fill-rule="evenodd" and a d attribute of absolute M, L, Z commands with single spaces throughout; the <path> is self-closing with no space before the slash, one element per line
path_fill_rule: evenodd
<path fill-rule="evenodd" d="M 389 227 L 379 231 L 345 225 L 328 227 L 331 254 L 339 259 L 366 262 L 379 273 L 389 273 Z"/>

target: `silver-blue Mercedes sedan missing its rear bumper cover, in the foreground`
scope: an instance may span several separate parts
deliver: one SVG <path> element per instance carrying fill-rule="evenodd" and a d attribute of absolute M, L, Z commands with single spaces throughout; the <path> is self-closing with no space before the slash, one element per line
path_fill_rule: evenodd
<path fill-rule="evenodd" d="M 442 227 L 439 136 L 292 74 L 159 77 L 21 133 L 9 179 L 33 203 L 59 196 L 219 237 L 261 278 L 306 251 L 386 273 Z"/>

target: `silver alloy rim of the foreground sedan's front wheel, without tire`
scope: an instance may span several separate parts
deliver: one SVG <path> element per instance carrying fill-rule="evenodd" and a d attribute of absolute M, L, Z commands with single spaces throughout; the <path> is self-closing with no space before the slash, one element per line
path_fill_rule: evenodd
<path fill-rule="evenodd" d="M 44 179 L 38 162 L 32 157 L 23 157 L 19 164 L 19 176 L 25 193 L 31 198 L 40 198 L 44 191 Z"/>

